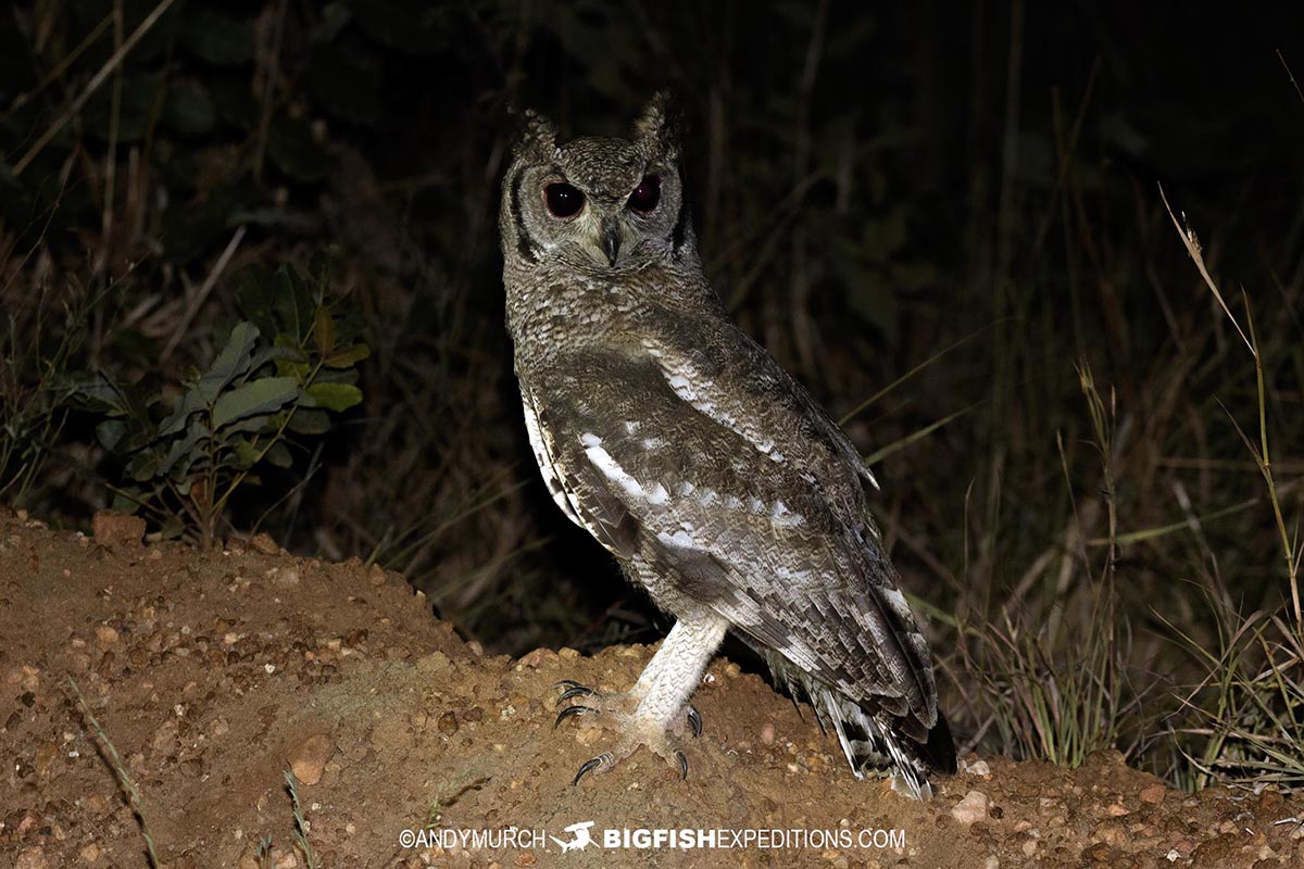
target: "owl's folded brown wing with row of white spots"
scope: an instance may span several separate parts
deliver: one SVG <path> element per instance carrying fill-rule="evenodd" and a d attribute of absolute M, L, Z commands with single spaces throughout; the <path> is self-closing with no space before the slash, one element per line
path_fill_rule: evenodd
<path fill-rule="evenodd" d="M 576 350 L 532 378 L 576 521 L 799 671 L 931 727 L 927 646 L 859 455 L 759 348 L 725 354 L 759 353 L 747 380 L 648 349 Z"/>

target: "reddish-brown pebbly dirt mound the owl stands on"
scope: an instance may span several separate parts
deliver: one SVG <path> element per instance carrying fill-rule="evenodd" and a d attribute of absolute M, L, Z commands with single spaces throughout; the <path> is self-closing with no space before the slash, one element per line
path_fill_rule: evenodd
<path fill-rule="evenodd" d="M 626 688 L 652 649 L 485 658 L 398 575 L 140 530 L 0 515 L 0 865 L 147 865 L 115 765 L 171 868 L 306 865 L 291 766 L 330 868 L 1304 865 L 1304 831 L 1281 822 L 1299 800 L 1187 796 L 1116 756 L 970 757 L 906 800 L 724 659 L 694 701 L 686 782 L 640 750 L 572 787 L 608 736 L 553 730 L 556 684 Z"/>

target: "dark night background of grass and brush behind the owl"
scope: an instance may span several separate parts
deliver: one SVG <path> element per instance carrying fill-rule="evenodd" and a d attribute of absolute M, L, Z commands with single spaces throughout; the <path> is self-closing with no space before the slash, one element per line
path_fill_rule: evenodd
<path fill-rule="evenodd" d="M 1072 666 L 1108 582 L 1141 694 L 1172 670 L 1148 637 L 1217 633 L 1205 597 L 1281 606 L 1278 529 L 1234 425 L 1257 443 L 1253 358 L 1159 185 L 1254 317 L 1297 515 L 1299 4 L 184 0 L 91 87 L 156 9 L 3 16 L 0 413 L 68 330 L 68 369 L 171 395 L 240 318 L 233 275 L 325 251 L 365 317 L 365 401 L 223 533 L 400 569 L 496 650 L 655 640 L 664 619 L 529 457 L 497 202 L 509 107 L 618 134 L 669 89 L 707 272 L 879 460 L 944 689 L 978 710 L 961 730 L 986 727 L 966 667 L 1000 663 L 966 645 L 973 625 Z M 85 526 L 113 474 L 94 422 L 69 412 L 4 498 Z"/>

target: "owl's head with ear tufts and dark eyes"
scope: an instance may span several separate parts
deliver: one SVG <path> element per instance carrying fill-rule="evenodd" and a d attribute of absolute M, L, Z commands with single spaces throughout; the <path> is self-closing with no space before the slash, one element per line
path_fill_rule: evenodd
<path fill-rule="evenodd" d="M 627 139 L 559 143 L 552 121 L 527 112 L 499 225 L 503 258 L 522 267 L 612 274 L 678 257 L 692 233 L 668 96 L 652 98 Z"/>

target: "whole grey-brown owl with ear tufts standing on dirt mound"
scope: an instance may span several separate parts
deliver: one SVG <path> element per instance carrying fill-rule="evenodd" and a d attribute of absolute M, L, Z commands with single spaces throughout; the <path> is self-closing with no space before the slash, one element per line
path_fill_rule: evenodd
<path fill-rule="evenodd" d="M 928 646 L 870 516 L 868 466 L 734 326 L 698 258 L 664 94 L 631 138 L 540 115 L 503 180 L 507 327 L 526 429 L 562 512 L 674 618 L 627 693 L 559 687 L 617 734 L 574 783 L 647 747 L 687 776 L 694 689 L 726 632 L 814 707 L 859 778 L 931 793 L 956 748 Z"/>

